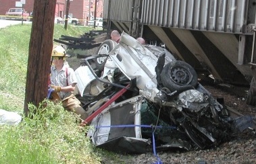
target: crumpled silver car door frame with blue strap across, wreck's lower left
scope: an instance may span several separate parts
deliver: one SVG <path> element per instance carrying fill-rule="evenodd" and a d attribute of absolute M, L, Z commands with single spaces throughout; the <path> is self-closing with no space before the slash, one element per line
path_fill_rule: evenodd
<path fill-rule="evenodd" d="M 132 97 L 131 99 L 127 99 L 126 101 L 122 101 L 121 103 L 115 104 L 114 106 L 109 106 L 108 108 L 105 108 L 105 110 L 103 110 L 101 114 L 93 119 L 91 126 L 93 126 L 94 128 L 89 130 L 87 133 L 88 136 L 91 136 L 93 143 L 95 145 L 101 145 L 107 142 L 107 140 L 113 139 L 111 135 L 109 136 L 109 131 L 111 130 L 111 128 L 118 127 L 111 127 L 111 122 L 113 122 L 111 118 L 114 118 L 118 124 L 122 124 L 121 122 L 126 122 L 126 124 L 130 123 L 129 125 L 140 125 L 140 108 L 143 99 L 143 96 L 138 95 L 136 97 Z M 120 109 L 120 107 L 123 107 L 123 109 Z M 128 116 L 124 118 L 115 118 L 113 113 L 121 113 L 120 116 L 122 116 L 124 110 L 127 111 Z M 116 134 L 114 134 L 115 138 L 124 136 L 124 132 L 128 137 L 137 139 L 142 138 L 139 126 L 134 126 L 126 129 L 120 128 L 116 130 Z"/>

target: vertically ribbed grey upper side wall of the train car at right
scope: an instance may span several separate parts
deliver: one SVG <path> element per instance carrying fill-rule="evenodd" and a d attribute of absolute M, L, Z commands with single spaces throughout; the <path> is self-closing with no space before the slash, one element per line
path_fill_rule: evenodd
<path fill-rule="evenodd" d="M 247 33 L 255 8 L 251 0 L 143 0 L 145 25 L 215 32 Z M 255 6 L 255 5 L 254 5 Z M 248 13 L 250 8 L 250 12 Z M 253 15 L 248 19 L 247 15 Z"/>

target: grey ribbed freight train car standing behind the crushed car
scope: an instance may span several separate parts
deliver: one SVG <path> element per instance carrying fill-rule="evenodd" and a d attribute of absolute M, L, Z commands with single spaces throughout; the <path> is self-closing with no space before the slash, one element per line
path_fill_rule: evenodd
<path fill-rule="evenodd" d="M 256 75 L 255 0 L 105 0 L 104 7 L 108 33 L 165 46 L 201 77 L 249 86 Z"/>

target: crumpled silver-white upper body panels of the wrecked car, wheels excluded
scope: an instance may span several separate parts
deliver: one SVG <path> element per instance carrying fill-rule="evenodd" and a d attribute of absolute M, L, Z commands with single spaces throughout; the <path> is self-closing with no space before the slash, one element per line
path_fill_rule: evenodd
<path fill-rule="evenodd" d="M 120 44 L 109 52 L 109 59 L 105 65 L 105 70 L 107 70 L 108 73 L 112 73 L 115 68 L 118 68 L 128 79 L 136 78 L 136 85 L 140 89 L 140 93 L 147 97 L 147 99 L 155 101 L 154 97 L 159 93 L 155 73 L 158 60 L 157 56 L 161 54 L 161 52 L 168 54 L 165 57 L 165 63 L 175 60 L 175 58 L 170 52 L 164 51 L 164 48 L 157 49 L 153 46 L 151 47 L 151 49 L 153 49 L 151 52 L 146 47 L 147 46 L 143 46 L 136 39 L 123 32 Z M 93 94 L 102 91 L 102 88 L 96 85 L 96 83 L 101 82 L 93 77 L 88 67 L 80 67 L 75 73 L 76 77 L 78 77 L 77 87 L 81 96 L 84 93 L 90 93 L 91 91 L 88 91 L 88 89 L 91 89 L 92 86 L 94 86 L 94 89 L 91 90 L 95 90 Z M 101 78 L 103 79 L 108 73 L 103 73 L 103 77 Z"/>

